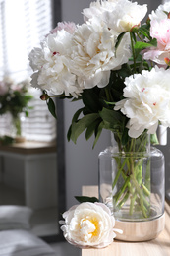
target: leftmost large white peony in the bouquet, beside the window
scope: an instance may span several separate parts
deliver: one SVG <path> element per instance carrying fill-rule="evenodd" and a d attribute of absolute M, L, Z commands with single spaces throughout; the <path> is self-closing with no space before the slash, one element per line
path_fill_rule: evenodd
<path fill-rule="evenodd" d="M 76 75 L 70 71 L 70 47 L 72 34 L 65 30 L 48 34 L 41 42 L 41 48 L 34 48 L 29 54 L 30 67 L 35 71 L 31 85 L 53 94 L 77 96 L 82 89 L 76 83 Z"/>

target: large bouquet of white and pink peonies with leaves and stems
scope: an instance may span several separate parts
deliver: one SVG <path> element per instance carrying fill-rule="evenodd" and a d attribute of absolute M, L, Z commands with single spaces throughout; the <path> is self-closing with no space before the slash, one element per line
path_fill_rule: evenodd
<path fill-rule="evenodd" d="M 82 25 L 58 23 L 29 54 L 31 85 L 43 90 L 54 116 L 52 97 L 84 103 L 68 140 L 76 143 L 85 131 L 86 140 L 94 134 L 94 147 L 102 129 L 114 133 L 114 213 L 129 202 L 129 215 L 138 209 L 140 219 L 152 215 L 146 135 L 157 143 L 158 125 L 170 126 L 170 3 L 142 24 L 146 13 L 145 4 L 128 0 L 92 2 Z"/>

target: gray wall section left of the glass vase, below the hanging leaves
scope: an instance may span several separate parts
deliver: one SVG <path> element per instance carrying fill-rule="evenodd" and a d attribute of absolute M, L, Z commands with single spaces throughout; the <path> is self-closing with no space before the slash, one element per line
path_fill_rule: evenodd
<path fill-rule="evenodd" d="M 66 139 L 67 130 L 71 124 L 72 116 L 79 109 L 79 103 L 65 101 L 65 166 L 66 166 L 66 205 L 67 208 L 77 203 L 74 196 L 82 194 L 83 185 L 98 184 L 98 153 L 110 145 L 110 133 L 104 131 L 96 147 L 92 150 L 93 138 L 85 141 L 82 134 L 75 145 Z"/>

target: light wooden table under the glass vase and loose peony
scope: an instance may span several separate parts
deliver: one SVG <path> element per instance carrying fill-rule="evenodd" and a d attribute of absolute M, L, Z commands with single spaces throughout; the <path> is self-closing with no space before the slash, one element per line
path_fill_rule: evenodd
<path fill-rule="evenodd" d="M 84 196 L 98 196 L 97 186 L 83 186 Z M 147 242 L 114 240 L 103 249 L 83 249 L 82 256 L 170 256 L 170 204 L 165 202 L 165 229 Z"/>

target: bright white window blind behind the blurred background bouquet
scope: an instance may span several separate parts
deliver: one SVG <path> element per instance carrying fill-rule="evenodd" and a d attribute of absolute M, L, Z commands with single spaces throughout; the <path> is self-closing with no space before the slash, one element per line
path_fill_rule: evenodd
<path fill-rule="evenodd" d="M 0 0 L 0 79 L 10 76 L 17 82 L 31 75 L 28 53 L 52 29 L 51 0 Z M 56 121 L 40 90 L 30 90 L 33 109 L 23 122 L 28 140 L 50 141 L 56 137 Z M 8 132 L 7 116 L 0 116 L 0 136 Z"/>

